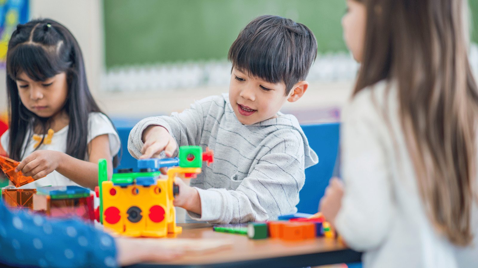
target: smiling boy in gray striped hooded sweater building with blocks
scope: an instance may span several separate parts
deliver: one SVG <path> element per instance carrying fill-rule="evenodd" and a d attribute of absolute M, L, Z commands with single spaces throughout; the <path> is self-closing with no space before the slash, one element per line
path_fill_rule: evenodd
<path fill-rule="evenodd" d="M 176 180 L 174 206 L 192 219 L 246 223 L 297 212 L 304 169 L 318 159 L 297 119 L 279 110 L 304 95 L 316 54 L 315 36 L 303 24 L 269 15 L 254 19 L 229 50 L 229 93 L 141 120 L 130 133 L 130 154 L 174 157 L 178 145 L 214 151 L 214 164 L 191 186 Z"/>

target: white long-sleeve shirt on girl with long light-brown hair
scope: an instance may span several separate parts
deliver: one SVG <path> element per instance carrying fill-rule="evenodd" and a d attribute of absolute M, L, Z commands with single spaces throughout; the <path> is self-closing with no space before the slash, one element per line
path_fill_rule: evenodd
<path fill-rule="evenodd" d="M 342 175 L 345 195 L 336 218 L 348 245 L 364 251 L 364 267 L 478 267 L 474 243 L 456 247 L 426 216 L 398 116 L 397 90 L 379 82 L 361 91 L 343 113 Z"/>

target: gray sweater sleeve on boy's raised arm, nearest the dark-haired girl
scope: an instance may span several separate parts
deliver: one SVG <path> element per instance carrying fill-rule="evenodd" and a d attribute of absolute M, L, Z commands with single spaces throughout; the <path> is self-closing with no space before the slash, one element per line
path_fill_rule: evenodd
<path fill-rule="evenodd" d="M 141 120 L 130 132 L 128 151 L 139 158 L 144 143 L 141 140 L 143 131 L 150 125 L 160 125 L 174 137 L 178 146 L 197 145 L 201 138 L 204 121 L 214 97 L 208 97 L 191 104 L 191 108 L 171 116 L 154 116 Z M 217 98 L 217 97 L 216 97 Z M 224 101 L 223 101 L 224 102 Z M 174 156 L 177 155 L 177 150 Z"/>

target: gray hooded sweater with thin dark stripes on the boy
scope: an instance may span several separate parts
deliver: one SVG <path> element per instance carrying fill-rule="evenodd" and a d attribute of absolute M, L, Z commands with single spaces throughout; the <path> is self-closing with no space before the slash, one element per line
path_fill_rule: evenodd
<path fill-rule="evenodd" d="M 252 125 L 239 122 L 228 94 L 196 101 L 171 116 L 149 117 L 131 130 L 130 154 L 141 155 L 141 134 L 162 125 L 179 146 L 200 145 L 214 151 L 214 163 L 191 180 L 201 198 L 202 215 L 211 223 L 264 221 L 295 213 L 304 169 L 318 163 L 297 119 L 290 114 Z M 174 156 L 177 155 L 177 150 Z"/>

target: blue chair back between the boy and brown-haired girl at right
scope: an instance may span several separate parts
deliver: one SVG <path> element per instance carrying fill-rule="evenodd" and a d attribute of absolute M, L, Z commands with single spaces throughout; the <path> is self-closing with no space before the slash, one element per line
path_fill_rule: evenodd
<path fill-rule="evenodd" d="M 298 212 L 314 214 L 334 172 L 339 141 L 339 123 L 302 126 L 319 164 L 305 170 L 305 184 L 299 192 Z"/>

